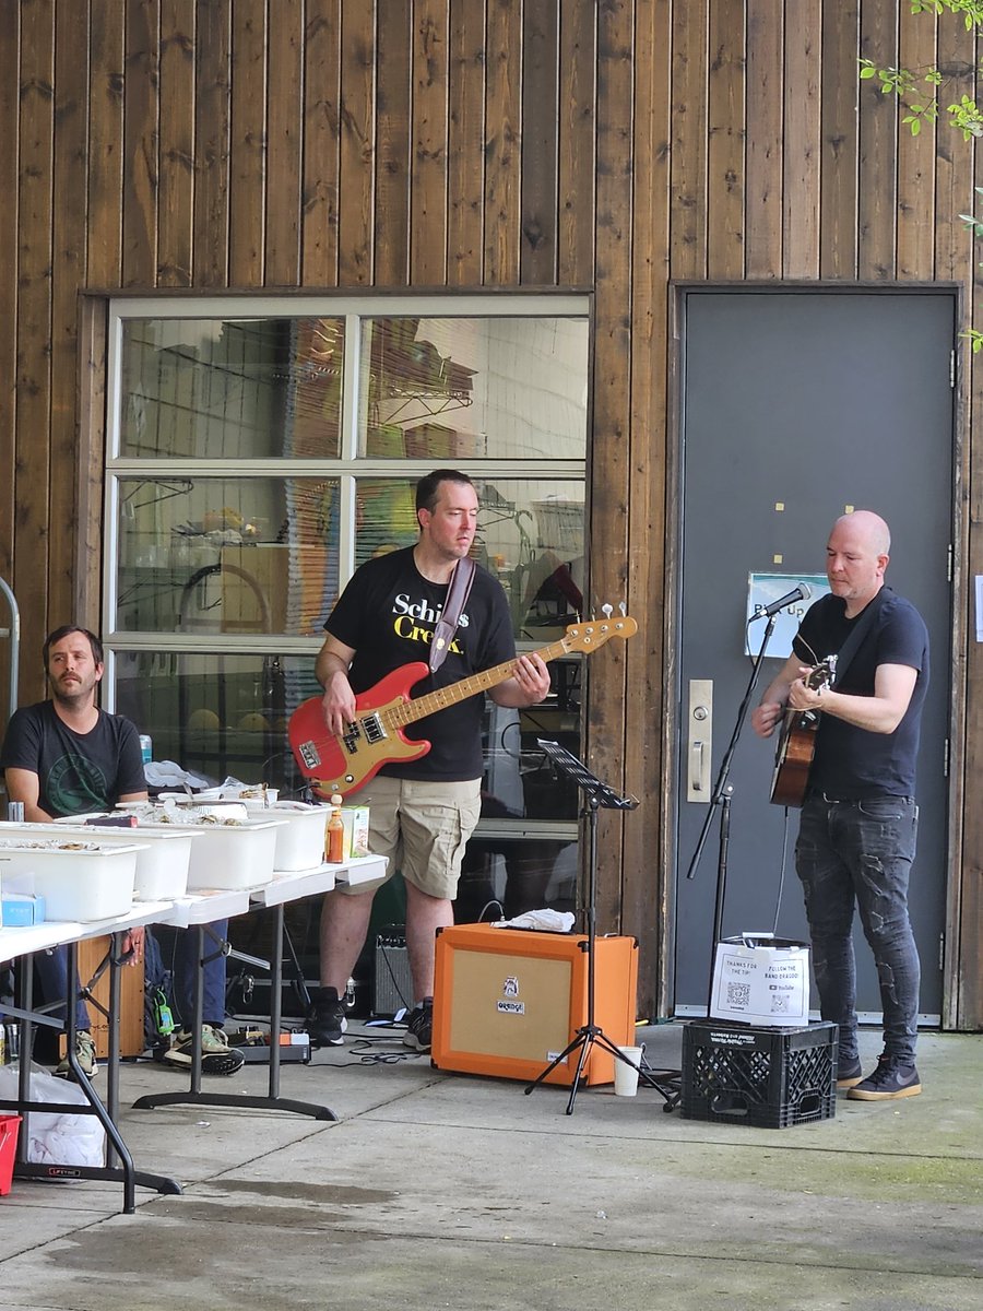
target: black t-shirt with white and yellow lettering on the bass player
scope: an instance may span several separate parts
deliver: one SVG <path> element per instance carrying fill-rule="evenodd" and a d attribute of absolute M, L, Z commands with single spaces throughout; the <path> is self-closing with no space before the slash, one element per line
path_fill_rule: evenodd
<path fill-rule="evenodd" d="M 349 679 L 357 695 L 367 692 L 402 665 L 426 665 L 446 599 L 447 585 L 433 583 L 418 572 L 412 547 L 362 565 L 324 625 L 332 637 L 355 652 Z M 417 697 L 450 687 L 514 657 L 515 640 L 502 585 L 477 568 L 447 659 L 435 675 L 423 670 L 422 679 L 412 684 L 412 695 Z M 406 691 L 404 682 L 397 678 L 384 700 Z M 400 779 L 457 783 L 480 779 L 484 768 L 482 711 L 484 694 L 478 692 L 408 725 L 406 737 L 426 739 L 431 743 L 430 751 L 418 760 L 384 766 L 380 772 Z"/>

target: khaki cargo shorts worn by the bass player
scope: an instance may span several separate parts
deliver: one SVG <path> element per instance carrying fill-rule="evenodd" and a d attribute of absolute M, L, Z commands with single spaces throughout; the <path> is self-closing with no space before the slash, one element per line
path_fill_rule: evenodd
<path fill-rule="evenodd" d="M 368 806 L 368 850 L 388 856 L 385 878 L 337 890 L 360 895 L 401 873 L 427 897 L 453 901 L 464 848 L 481 814 L 481 779 L 431 783 L 376 775 L 353 798 Z"/>

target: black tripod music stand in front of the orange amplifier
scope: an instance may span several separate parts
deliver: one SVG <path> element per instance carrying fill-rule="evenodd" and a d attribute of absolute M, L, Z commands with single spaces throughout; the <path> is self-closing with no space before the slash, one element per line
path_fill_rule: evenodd
<path fill-rule="evenodd" d="M 547 1068 L 539 1074 L 532 1083 L 526 1088 L 526 1095 L 528 1096 L 533 1088 L 537 1088 L 543 1080 L 562 1062 L 566 1061 L 578 1047 L 581 1049 L 581 1055 L 577 1061 L 577 1070 L 574 1071 L 573 1084 L 570 1086 L 570 1100 L 566 1104 L 566 1114 L 573 1114 L 574 1101 L 577 1100 L 577 1089 L 581 1084 L 581 1076 L 583 1074 L 583 1067 L 587 1063 L 587 1057 L 590 1055 L 591 1047 L 595 1042 L 599 1042 L 606 1051 L 609 1051 L 616 1061 L 624 1061 L 625 1065 L 630 1066 L 632 1062 L 626 1055 L 623 1054 L 621 1049 L 617 1047 L 611 1038 L 604 1033 L 604 1030 L 594 1023 L 594 944 L 596 940 L 596 881 L 598 881 L 598 810 L 602 808 L 604 810 L 634 810 L 638 805 L 636 797 L 623 797 L 617 792 L 613 792 L 606 783 L 596 779 L 590 770 L 571 755 L 565 747 L 560 746 L 558 742 L 548 742 L 543 738 L 536 739 L 543 747 L 545 754 L 553 762 L 553 764 L 565 773 L 568 779 L 573 779 L 577 787 L 585 796 L 585 806 L 581 812 L 581 818 L 587 818 L 588 821 L 588 848 L 587 848 L 587 1023 L 582 1024 L 577 1033 L 573 1036 L 571 1041 L 564 1047 L 558 1057 L 549 1062 Z M 634 1067 L 633 1067 L 634 1068 Z M 655 1088 L 666 1099 L 667 1108 L 672 1109 L 674 1099 L 661 1084 L 651 1076 L 647 1070 L 638 1071 L 638 1079 L 647 1084 L 650 1088 Z M 670 1103 L 672 1105 L 670 1105 Z"/>

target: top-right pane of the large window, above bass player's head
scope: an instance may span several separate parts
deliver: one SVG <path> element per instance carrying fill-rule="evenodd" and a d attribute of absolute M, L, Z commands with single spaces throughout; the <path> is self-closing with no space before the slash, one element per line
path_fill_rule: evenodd
<path fill-rule="evenodd" d="M 583 460 L 586 319 L 366 319 L 360 454 Z"/>

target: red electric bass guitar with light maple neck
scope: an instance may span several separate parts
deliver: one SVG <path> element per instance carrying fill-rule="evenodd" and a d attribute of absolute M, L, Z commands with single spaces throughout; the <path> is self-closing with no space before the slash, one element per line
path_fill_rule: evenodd
<path fill-rule="evenodd" d="M 638 624 L 626 615 L 571 624 L 558 641 L 536 654 L 545 663 L 575 652 L 588 656 L 612 637 L 628 638 L 637 632 Z M 287 725 L 298 768 L 320 796 L 357 792 L 384 764 L 415 760 L 427 754 L 429 742 L 412 742 L 405 737 L 402 730 L 409 724 L 505 683 L 514 670 L 515 661 L 510 659 L 413 700 L 410 690 L 429 675 L 430 669 L 422 661 L 401 665 L 355 697 L 355 718 L 341 737 L 328 732 L 321 697 L 312 696 L 298 705 Z"/>

